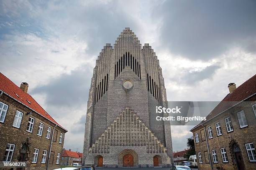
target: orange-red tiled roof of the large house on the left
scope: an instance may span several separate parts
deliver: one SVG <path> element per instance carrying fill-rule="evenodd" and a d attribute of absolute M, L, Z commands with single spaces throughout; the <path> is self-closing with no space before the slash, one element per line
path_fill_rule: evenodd
<path fill-rule="evenodd" d="M 14 84 L 11 80 L 9 80 L 5 75 L 0 72 L 0 90 L 5 92 L 6 94 L 10 95 L 14 99 L 18 100 L 19 102 L 23 103 L 27 107 L 33 109 L 34 111 L 38 112 L 40 115 L 45 117 L 46 119 L 54 122 L 55 124 L 59 125 L 37 102 L 36 100 L 31 97 L 26 92 L 20 89 L 17 85 Z M 18 95 L 18 96 L 17 96 Z M 61 125 L 59 127 L 63 128 Z M 64 128 L 63 128 L 64 129 Z M 66 130 L 66 129 L 64 129 Z"/>

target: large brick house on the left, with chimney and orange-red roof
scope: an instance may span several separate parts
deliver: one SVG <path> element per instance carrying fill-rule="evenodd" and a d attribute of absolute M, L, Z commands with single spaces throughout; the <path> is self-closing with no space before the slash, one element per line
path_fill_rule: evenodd
<path fill-rule="evenodd" d="M 27 93 L 0 73 L 0 161 L 26 161 L 30 169 L 52 170 L 59 160 L 67 133 Z"/>

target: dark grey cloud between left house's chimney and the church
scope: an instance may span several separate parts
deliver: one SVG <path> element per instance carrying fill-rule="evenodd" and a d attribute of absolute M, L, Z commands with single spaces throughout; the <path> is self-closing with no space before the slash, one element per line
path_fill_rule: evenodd
<path fill-rule="evenodd" d="M 55 107 L 75 107 L 87 103 L 92 68 L 83 66 L 70 74 L 62 74 L 46 85 L 32 90 L 32 94 L 46 95 L 46 104 Z"/>

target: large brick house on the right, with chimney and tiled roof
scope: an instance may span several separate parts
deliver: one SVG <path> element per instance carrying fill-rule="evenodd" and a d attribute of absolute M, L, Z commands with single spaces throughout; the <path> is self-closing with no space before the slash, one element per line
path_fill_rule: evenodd
<path fill-rule="evenodd" d="M 256 170 L 256 75 L 229 94 L 192 128 L 199 170 Z"/>

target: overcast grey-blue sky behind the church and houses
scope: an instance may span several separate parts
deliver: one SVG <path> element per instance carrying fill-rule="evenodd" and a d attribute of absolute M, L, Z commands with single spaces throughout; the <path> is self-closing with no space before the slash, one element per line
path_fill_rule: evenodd
<path fill-rule="evenodd" d="M 82 151 L 88 91 L 105 43 L 130 27 L 160 60 L 170 101 L 218 101 L 256 73 L 255 0 L 0 0 L 0 72 L 69 130 Z M 173 149 L 192 127 L 172 126 Z"/>

